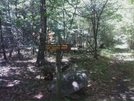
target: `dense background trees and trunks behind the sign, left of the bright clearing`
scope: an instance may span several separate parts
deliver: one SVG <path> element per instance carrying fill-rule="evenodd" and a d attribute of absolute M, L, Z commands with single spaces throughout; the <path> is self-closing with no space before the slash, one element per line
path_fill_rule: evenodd
<path fill-rule="evenodd" d="M 51 39 L 53 43 L 58 42 L 58 34 L 60 33 L 62 43 L 69 43 L 75 47 L 90 47 L 94 57 L 97 58 L 99 45 L 109 41 L 109 46 L 111 46 L 114 42 L 112 38 L 114 32 L 106 32 L 105 30 L 105 27 L 112 26 L 108 20 L 105 20 L 106 17 L 109 16 L 109 13 L 112 16 L 119 15 L 116 14 L 117 8 L 108 10 L 110 6 L 106 5 L 111 6 L 112 2 L 108 2 L 108 0 L 83 2 L 79 0 L 61 0 L 61 2 L 11 0 L 1 2 L 2 30 L 3 33 L 7 33 L 2 37 L 5 37 L 4 40 L 8 39 L 5 46 L 11 50 L 10 57 L 13 47 L 17 47 L 19 55 L 20 46 L 33 47 L 33 53 L 35 47 L 39 46 L 37 64 L 43 64 L 45 62 L 43 45 L 52 38 L 46 38 L 48 37 L 46 33 L 52 31 L 55 33 Z M 105 41 L 103 36 L 107 36 L 107 33 L 111 33 L 111 39 Z M 10 44 L 7 45 L 8 43 Z"/>

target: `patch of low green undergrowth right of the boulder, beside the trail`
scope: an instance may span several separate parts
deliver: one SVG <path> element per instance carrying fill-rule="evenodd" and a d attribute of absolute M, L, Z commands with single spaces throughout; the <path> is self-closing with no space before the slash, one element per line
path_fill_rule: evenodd
<path fill-rule="evenodd" d="M 88 77 L 96 82 L 107 82 L 110 79 L 108 70 L 110 59 L 107 57 L 99 57 L 98 60 L 89 58 L 82 54 L 71 59 L 72 63 L 77 63 L 77 69 L 84 69 Z"/>

